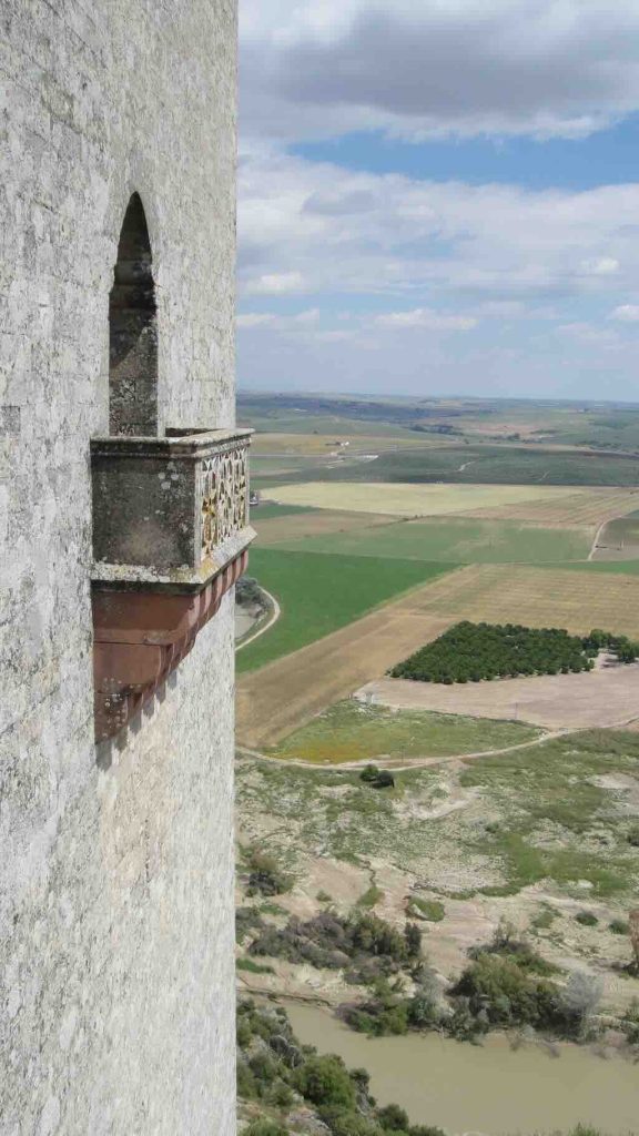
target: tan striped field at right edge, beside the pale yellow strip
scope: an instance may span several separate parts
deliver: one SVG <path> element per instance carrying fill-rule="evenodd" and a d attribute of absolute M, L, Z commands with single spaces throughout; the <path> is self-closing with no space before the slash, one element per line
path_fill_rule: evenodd
<path fill-rule="evenodd" d="M 639 488 L 567 488 L 559 498 L 520 501 L 468 509 L 464 516 L 487 520 L 525 520 L 530 524 L 597 528 L 614 517 L 639 509 Z"/>

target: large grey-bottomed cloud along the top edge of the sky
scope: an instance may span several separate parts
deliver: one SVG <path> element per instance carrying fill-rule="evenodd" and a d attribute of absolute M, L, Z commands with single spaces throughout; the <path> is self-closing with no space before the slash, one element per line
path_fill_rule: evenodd
<path fill-rule="evenodd" d="M 244 130 L 580 136 L 639 106 L 634 0 L 243 0 Z"/>

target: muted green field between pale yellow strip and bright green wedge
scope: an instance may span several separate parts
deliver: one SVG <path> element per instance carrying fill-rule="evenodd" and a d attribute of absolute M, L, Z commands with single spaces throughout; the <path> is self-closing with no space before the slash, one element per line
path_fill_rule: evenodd
<path fill-rule="evenodd" d="M 579 529 L 446 518 L 289 540 L 280 548 L 457 563 L 541 563 L 586 560 L 590 544 L 587 533 Z"/>

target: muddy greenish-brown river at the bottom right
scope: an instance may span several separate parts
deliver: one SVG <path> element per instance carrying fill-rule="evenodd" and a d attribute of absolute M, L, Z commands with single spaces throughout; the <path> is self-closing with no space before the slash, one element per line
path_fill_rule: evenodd
<path fill-rule="evenodd" d="M 438 1035 L 370 1039 L 315 1006 L 287 1003 L 301 1042 L 339 1053 L 371 1074 L 380 1104 L 395 1101 L 413 1124 L 451 1134 L 564 1133 L 580 1121 L 603 1131 L 639 1133 L 639 1063 L 576 1045 L 558 1055 L 533 1044 L 512 1050 L 503 1035 L 483 1045 Z"/>

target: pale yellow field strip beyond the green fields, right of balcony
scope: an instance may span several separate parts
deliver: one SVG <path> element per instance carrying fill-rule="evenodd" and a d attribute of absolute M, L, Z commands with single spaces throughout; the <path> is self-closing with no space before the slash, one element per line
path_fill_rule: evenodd
<path fill-rule="evenodd" d="M 314 506 L 396 517 L 443 517 L 526 502 L 556 503 L 574 496 L 574 488 L 546 485 L 409 485 L 385 482 L 308 482 L 281 485 L 268 496 L 284 504 Z"/>

